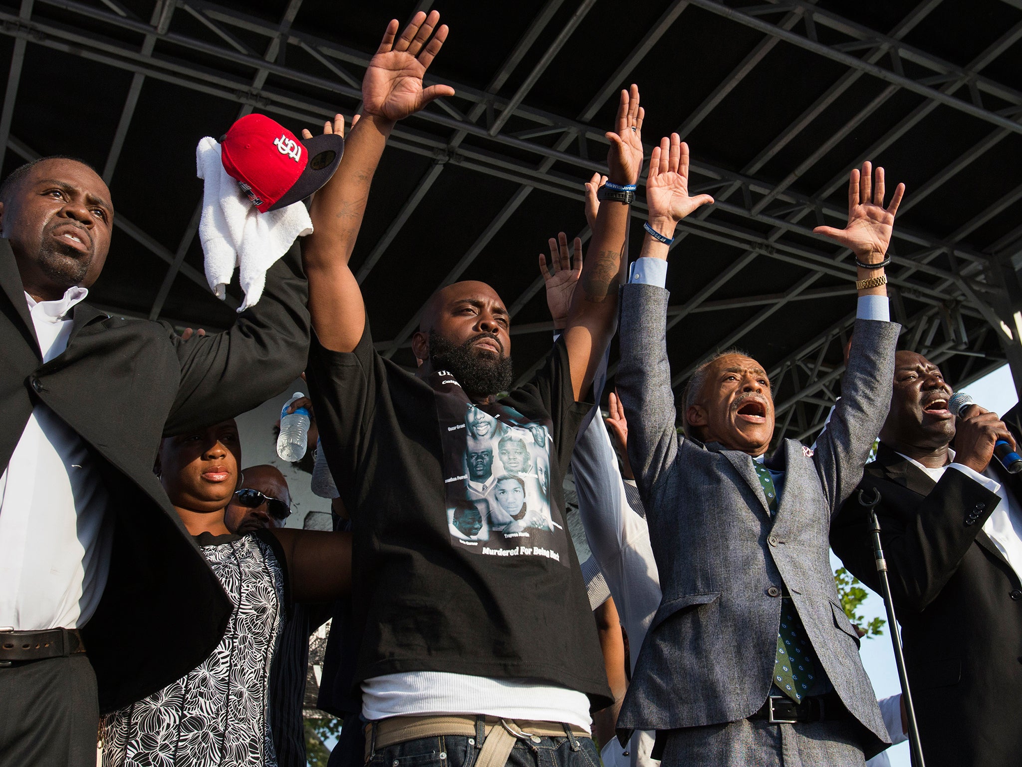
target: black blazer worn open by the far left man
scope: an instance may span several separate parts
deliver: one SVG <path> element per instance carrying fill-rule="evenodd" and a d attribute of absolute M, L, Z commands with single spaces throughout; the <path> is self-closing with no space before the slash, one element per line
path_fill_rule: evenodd
<path fill-rule="evenodd" d="M 164 435 L 242 413 L 305 367 L 308 284 L 297 249 L 230 330 L 184 342 L 166 322 L 111 318 L 82 303 L 66 351 L 43 364 L 21 279 L 0 239 L 0 466 L 44 402 L 97 457 L 115 527 L 109 578 L 83 628 L 101 711 L 140 700 L 216 647 L 231 602 L 152 467 Z"/>

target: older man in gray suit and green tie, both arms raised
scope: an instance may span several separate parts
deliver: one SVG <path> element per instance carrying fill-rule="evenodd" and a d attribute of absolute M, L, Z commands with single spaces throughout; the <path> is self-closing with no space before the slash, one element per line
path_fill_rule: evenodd
<path fill-rule="evenodd" d="M 851 173 L 848 225 L 820 227 L 855 254 L 860 304 L 841 399 L 816 452 L 774 434 L 770 380 L 755 360 L 718 355 L 676 411 L 665 345 L 666 256 L 688 195 L 688 148 L 663 139 L 651 160 L 650 220 L 623 288 L 618 394 L 646 506 L 663 599 L 642 647 L 618 731 L 657 730 L 665 765 L 856 765 L 889 742 L 841 608 L 828 532 L 863 477 L 890 401 L 899 326 L 888 321 L 883 264 L 898 185 Z M 643 284 L 645 283 L 645 284 Z M 765 458 L 765 460 L 764 460 Z"/>

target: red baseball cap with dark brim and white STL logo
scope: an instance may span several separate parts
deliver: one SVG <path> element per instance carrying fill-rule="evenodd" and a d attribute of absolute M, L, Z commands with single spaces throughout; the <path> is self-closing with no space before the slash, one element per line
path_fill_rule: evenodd
<path fill-rule="evenodd" d="M 299 139 L 265 115 L 245 115 L 220 139 L 224 170 L 260 211 L 276 211 L 320 189 L 340 163 L 344 139 Z"/>

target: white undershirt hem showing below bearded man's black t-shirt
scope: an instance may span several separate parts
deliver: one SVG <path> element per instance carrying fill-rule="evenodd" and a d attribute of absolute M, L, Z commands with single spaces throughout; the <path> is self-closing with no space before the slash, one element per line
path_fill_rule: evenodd
<path fill-rule="evenodd" d="M 592 731 L 584 692 L 535 679 L 493 679 L 445 671 L 384 674 L 362 683 L 362 716 L 482 714 L 503 719 L 563 722 Z"/>

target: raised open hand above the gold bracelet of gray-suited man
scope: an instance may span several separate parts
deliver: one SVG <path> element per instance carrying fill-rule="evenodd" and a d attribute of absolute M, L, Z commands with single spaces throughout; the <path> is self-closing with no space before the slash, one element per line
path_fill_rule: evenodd
<path fill-rule="evenodd" d="M 894 214 L 904 195 L 904 184 L 898 184 L 891 204 L 884 208 L 884 169 L 877 168 L 873 182 L 870 162 L 863 163 L 862 172 L 852 170 L 848 178 L 848 225 L 844 229 L 818 226 L 812 231 L 835 239 L 855 254 L 864 263 L 884 260 L 894 228 Z"/>

